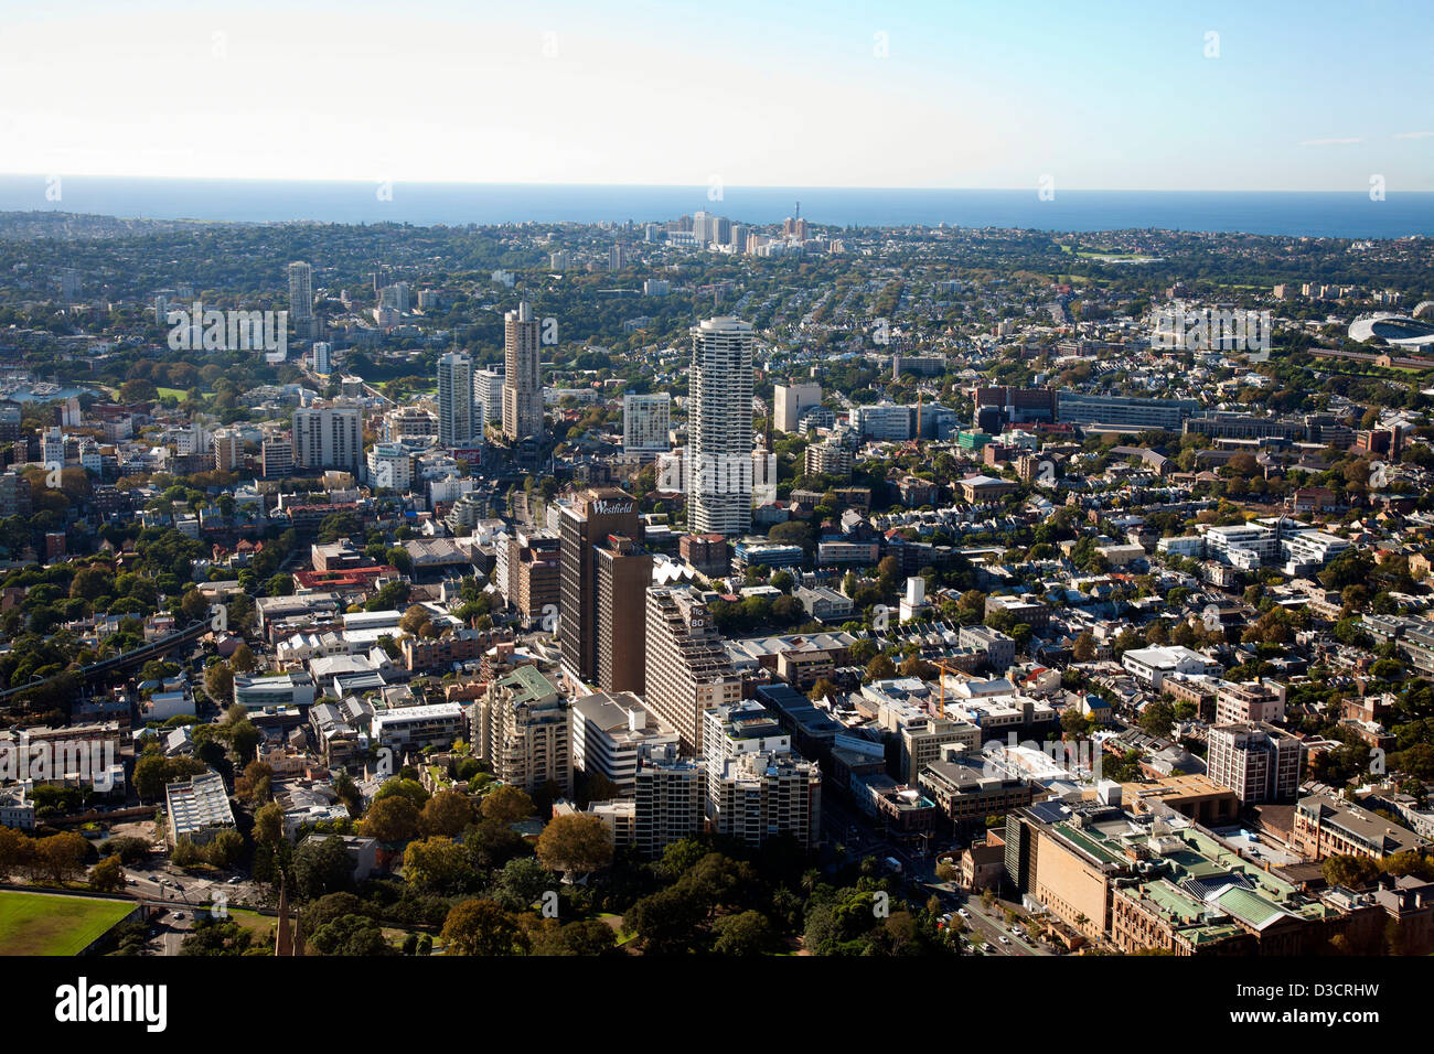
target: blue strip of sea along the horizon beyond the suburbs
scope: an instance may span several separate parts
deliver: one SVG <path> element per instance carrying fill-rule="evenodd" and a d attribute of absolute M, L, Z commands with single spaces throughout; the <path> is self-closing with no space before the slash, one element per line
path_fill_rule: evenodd
<path fill-rule="evenodd" d="M 1332 238 L 1434 235 L 1434 192 L 1025 191 L 129 179 L 0 175 L 0 211 L 341 224 L 660 222 L 698 209 L 737 222 L 796 212 L 826 227 L 1162 228 Z"/>

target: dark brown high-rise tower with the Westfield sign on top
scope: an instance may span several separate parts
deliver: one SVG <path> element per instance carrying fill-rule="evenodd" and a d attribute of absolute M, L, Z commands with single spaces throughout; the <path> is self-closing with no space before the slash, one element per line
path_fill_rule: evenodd
<path fill-rule="evenodd" d="M 642 630 L 638 627 L 634 631 L 631 627 L 634 621 L 642 622 L 642 594 L 651 584 L 652 558 L 641 549 L 642 521 L 637 512 L 637 500 L 615 488 L 582 490 L 562 511 L 558 533 L 562 565 L 562 618 L 558 637 L 564 671 L 587 684 L 598 681 L 604 691 L 641 691 L 641 677 L 635 684 L 601 683 L 598 663 L 604 621 L 608 627 L 607 640 L 635 632 L 637 654 L 642 652 Z M 611 541 L 614 538 L 621 541 Z M 598 578 L 599 551 L 608 554 L 604 558 L 608 587 L 605 604 Z M 645 578 L 640 568 L 645 568 Z M 624 641 L 624 654 L 627 644 Z M 614 677 L 630 677 L 625 663 L 612 665 L 611 670 Z"/>

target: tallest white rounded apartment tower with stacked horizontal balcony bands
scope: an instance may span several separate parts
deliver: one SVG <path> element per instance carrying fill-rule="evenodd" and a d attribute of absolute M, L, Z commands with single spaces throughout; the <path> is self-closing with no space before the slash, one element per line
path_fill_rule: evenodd
<path fill-rule="evenodd" d="M 731 315 L 693 328 L 688 526 L 751 529 L 751 324 Z"/>

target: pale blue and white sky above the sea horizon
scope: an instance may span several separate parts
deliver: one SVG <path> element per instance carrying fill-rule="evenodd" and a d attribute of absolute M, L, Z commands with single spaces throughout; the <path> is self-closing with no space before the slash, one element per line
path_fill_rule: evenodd
<path fill-rule="evenodd" d="M 1431 14 L 0 0 L 0 172 L 1434 191 Z"/>

